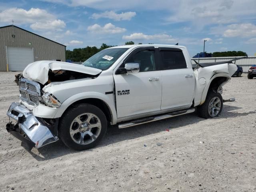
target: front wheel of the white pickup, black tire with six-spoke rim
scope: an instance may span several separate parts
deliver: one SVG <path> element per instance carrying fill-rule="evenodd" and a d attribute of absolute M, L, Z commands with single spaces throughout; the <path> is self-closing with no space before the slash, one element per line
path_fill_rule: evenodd
<path fill-rule="evenodd" d="M 79 104 L 63 114 L 59 123 L 59 136 L 64 144 L 74 150 L 95 147 L 105 136 L 107 120 L 98 107 Z"/>

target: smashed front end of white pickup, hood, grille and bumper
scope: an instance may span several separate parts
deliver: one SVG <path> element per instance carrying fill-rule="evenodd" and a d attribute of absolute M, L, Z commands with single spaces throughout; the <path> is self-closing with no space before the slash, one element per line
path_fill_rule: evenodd
<path fill-rule="evenodd" d="M 9 122 L 6 130 L 28 148 L 40 148 L 58 140 L 58 118 L 54 118 L 62 101 L 47 90 L 53 84 L 93 79 L 102 70 L 56 61 L 29 64 L 19 79 L 20 102 L 13 102 L 7 112 L 16 123 Z M 58 95 L 60 96 L 60 95 Z"/>

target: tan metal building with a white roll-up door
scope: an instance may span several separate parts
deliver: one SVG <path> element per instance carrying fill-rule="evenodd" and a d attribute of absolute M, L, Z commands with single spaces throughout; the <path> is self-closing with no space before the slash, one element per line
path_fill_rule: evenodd
<path fill-rule="evenodd" d="M 0 71 L 22 71 L 39 60 L 65 61 L 66 46 L 17 26 L 0 27 Z"/>

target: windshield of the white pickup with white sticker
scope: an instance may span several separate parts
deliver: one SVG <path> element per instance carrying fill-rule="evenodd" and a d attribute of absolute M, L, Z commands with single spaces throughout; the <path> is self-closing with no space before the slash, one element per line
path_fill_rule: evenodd
<path fill-rule="evenodd" d="M 128 48 L 104 49 L 88 58 L 82 65 L 86 67 L 106 70 L 124 53 Z"/>

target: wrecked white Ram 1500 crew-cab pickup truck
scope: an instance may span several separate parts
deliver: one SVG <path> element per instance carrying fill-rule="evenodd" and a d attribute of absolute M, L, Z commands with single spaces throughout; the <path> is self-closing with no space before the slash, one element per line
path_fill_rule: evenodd
<path fill-rule="evenodd" d="M 81 65 L 37 61 L 23 71 L 20 101 L 7 115 L 8 132 L 40 148 L 61 139 L 74 150 L 92 148 L 108 125 L 126 128 L 192 113 L 220 114 L 222 86 L 237 66 L 192 65 L 184 46 L 125 45 L 102 50 Z"/>

